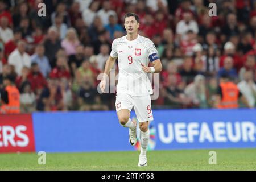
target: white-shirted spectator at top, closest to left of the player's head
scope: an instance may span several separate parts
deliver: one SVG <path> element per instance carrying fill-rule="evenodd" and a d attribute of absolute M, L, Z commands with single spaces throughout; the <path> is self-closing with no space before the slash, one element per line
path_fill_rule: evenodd
<path fill-rule="evenodd" d="M 113 15 L 117 17 L 117 14 L 115 11 L 110 10 L 110 2 L 109 1 L 104 1 L 103 7 L 100 11 L 98 11 L 97 15 L 101 18 L 101 21 L 104 26 L 109 24 L 109 16 Z"/>

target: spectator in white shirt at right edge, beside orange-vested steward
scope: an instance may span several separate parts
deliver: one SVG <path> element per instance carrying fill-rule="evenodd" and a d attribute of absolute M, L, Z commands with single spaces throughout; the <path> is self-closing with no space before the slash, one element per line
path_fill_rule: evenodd
<path fill-rule="evenodd" d="M 253 81 L 253 72 L 246 71 L 243 80 L 237 84 L 240 92 L 245 96 L 250 107 L 255 107 L 256 84 Z"/>

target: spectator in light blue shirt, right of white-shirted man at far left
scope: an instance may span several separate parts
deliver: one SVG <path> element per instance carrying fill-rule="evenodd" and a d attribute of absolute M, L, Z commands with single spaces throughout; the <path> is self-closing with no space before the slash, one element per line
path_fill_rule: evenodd
<path fill-rule="evenodd" d="M 49 72 L 51 72 L 51 65 L 49 65 L 49 60 L 44 55 L 44 51 L 45 49 L 43 44 L 36 46 L 35 53 L 31 56 L 31 63 L 38 64 L 40 72 L 45 78 L 47 78 Z"/>

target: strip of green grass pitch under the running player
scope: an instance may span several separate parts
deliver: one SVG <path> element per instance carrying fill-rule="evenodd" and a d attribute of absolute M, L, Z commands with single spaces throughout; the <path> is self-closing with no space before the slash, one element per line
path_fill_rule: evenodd
<path fill-rule="evenodd" d="M 0 154 L 0 170 L 256 170 L 256 148 L 214 150 L 216 165 L 209 151 L 148 151 L 147 167 L 137 167 L 138 151 L 47 153 L 46 165 L 36 153 Z"/>

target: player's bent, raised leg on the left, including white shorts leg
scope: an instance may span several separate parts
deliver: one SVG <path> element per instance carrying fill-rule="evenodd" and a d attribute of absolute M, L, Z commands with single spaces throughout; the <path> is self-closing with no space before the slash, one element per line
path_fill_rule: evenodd
<path fill-rule="evenodd" d="M 129 142 L 132 146 L 137 143 L 136 127 L 137 123 L 131 121 L 130 111 L 133 108 L 131 98 L 127 94 L 118 94 L 115 102 L 118 121 L 123 127 L 129 128 Z"/>

